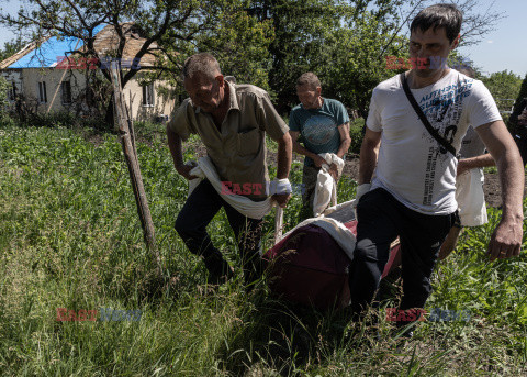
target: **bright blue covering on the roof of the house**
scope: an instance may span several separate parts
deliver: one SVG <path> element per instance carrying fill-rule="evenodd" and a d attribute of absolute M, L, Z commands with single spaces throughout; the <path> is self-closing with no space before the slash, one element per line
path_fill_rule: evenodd
<path fill-rule="evenodd" d="M 97 35 L 105 25 L 101 24 L 93 30 Z M 44 42 L 38 48 L 33 49 L 29 54 L 22 56 L 20 59 L 11 64 L 7 68 L 43 68 L 54 67 L 60 57 L 64 58 L 66 52 L 71 52 L 82 47 L 82 40 L 75 36 L 65 36 L 58 40 L 52 36 Z"/>

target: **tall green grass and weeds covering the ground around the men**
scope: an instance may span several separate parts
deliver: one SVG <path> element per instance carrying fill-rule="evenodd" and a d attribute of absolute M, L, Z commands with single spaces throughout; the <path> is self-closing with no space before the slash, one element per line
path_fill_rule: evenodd
<path fill-rule="evenodd" d="M 525 375 L 527 257 L 486 262 L 490 223 L 469 230 L 434 274 L 427 309 L 467 309 L 469 322 L 423 322 L 403 346 L 347 312 L 321 313 L 250 295 L 239 276 L 206 291 L 206 271 L 173 230 L 187 182 L 162 125 L 136 126 L 138 158 L 166 273 L 150 293 L 149 258 L 114 134 L 66 127 L 0 126 L 1 376 L 354 376 Z M 192 158 L 191 140 L 186 158 Z M 291 180 L 300 182 L 299 164 Z M 271 177 L 274 167 L 270 168 Z M 339 201 L 352 199 L 343 179 Z M 293 226 L 294 197 L 285 211 Z M 266 223 L 272 239 L 272 214 Z M 213 242 L 233 266 L 234 236 L 220 212 Z M 525 246 L 525 244 L 524 244 Z M 386 302 L 384 306 L 392 306 Z M 141 321 L 59 322 L 56 309 L 139 309 Z"/>

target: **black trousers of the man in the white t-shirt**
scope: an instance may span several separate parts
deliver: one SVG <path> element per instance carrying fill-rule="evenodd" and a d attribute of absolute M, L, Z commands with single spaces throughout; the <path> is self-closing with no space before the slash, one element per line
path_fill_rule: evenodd
<path fill-rule="evenodd" d="M 357 212 L 357 246 L 350 267 L 354 313 L 359 314 L 371 304 L 389 258 L 390 244 L 397 235 L 403 278 L 400 309 L 423 308 L 431 291 L 430 276 L 439 247 L 456 214 L 415 212 L 381 188 L 362 196 Z"/>

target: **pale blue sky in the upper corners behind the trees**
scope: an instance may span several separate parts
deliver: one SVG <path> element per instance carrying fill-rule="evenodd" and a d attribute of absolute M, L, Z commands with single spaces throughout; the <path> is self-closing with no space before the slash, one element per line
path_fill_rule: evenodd
<path fill-rule="evenodd" d="M 2 12 L 15 15 L 21 0 L 2 1 Z M 440 1 L 438 1 L 440 2 Z M 495 30 L 474 46 L 460 47 L 459 52 L 473 60 L 484 75 L 512 70 L 525 77 L 527 74 L 527 1 L 526 0 L 476 0 L 476 9 L 484 12 L 493 2 L 492 11 L 504 13 Z M 0 47 L 15 38 L 15 33 L 0 26 Z"/>

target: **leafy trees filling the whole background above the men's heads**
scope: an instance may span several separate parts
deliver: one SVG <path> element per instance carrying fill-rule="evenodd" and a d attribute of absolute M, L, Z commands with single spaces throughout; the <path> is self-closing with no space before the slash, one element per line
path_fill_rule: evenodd
<path fill-rule="evenodd" d="M 453 0 L 464 13 L 462 44 L 480 42 L 503 14 L 492 8 L 481 11 L 474 0 Z M 122 58 L 131 35 L 134 58 L 158 57 L 154 67 L 122 70 L 122 85 L 137 73 L 142 82 L 166 79 L 173 93 L 183 93 L 180 71 L 195 52 L 212 52 L 223 73 L 238 82 L 269 90 L 281 114 L 298 103 L 295 81 L 314 71 L 323 93 L 367 115 L 373 88 L 393 76 L 388 56 L 406 56 L 407 23 L 431 0 L 194 0 L 194 1 L 69 1 L 27 0 L 20 12 L 0 12 L 0 24 L 18 31 L 24 40 L 45 35 L 74 36 L 82 41 L 65 54 L 97 58 Z M 406 5 L 406 7 L 405 7 Z M 133 22 L 130 24 L 128 22 Z M 119 46 L 97 51 L 93 33 L 110 25 Z M 137 40 L 143 37 L 144 40 Z M 5 45 L 5 51 L 22 40 Z M 101 56 L 100 56 L 101 54 Z M 102 56 L 104 55 L 104 56 Z M 1 56 L 1 52 L 0 52 Z M 102 69 L 105 80 L 110 73 Z M 101 76 L 102 76 L 101 75 Z M 139 75 L 142 76 L 142 75 Z M 89 75 L 98 84 L 94 73 Z M 104 80 L 104 79 L 103 79 Z M 164 89 L 165 91 L 167 88 Z M 97 90 L 96 90 L 97 92 Z M 108 98 L 97 98 L 97 102 Z M 108 108 L 109 112 L 111 107 Z M 110 113 L 108 119 L 110 120 Z"/>

